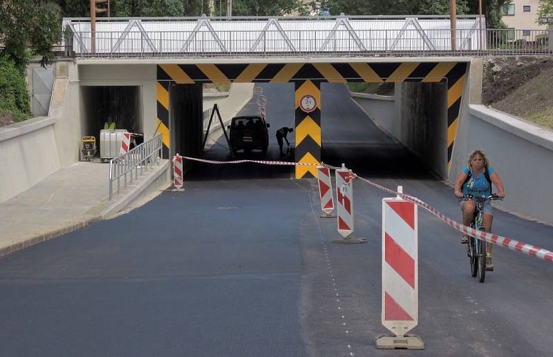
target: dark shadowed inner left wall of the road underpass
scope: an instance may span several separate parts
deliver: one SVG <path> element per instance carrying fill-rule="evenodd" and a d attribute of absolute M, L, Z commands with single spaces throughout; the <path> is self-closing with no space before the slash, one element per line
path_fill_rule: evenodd
<path fill-rule="evenodd" d="M 203 85 L 176 84 L 169 86 L 169 157 L 200 157 L 203 133 Z M 189 171 L 187 161 L 183 170 Z"/>

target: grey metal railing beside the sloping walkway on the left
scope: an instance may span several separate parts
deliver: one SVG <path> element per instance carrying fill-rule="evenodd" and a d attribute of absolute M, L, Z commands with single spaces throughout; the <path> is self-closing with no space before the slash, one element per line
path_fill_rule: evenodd
<path fill-rule="evenodd" d="M 115 157 L 109 162 L 109 200 L 113 198 L 113 184 L 117 181 L 117 191 L 121 191 L 121 180 L 123 189 L 126 184 L 133 184 L 133 180 L 138 180 L 151 166 L 159 166 L 162 158 L 162 139 L 161 134 L 152 137 L 142 144 L 131 148 L 126 154 Z"/>

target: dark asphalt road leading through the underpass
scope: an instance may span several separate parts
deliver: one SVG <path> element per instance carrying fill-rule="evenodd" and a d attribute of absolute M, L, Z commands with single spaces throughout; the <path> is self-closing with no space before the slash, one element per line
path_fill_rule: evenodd
<path fill-rule="evenodd" d="M 278 160 L 274 133 L 293 120 L 293 86 L 262 86 L 271 124 L 263 159 Z M 343 86 L 324 84 L 321 104 L 324 162 L 401 184 L 459 216 L 453 190 L 379 131 Z M 252 102 L 243 113 L 255 110 Z M 224 146 L 206 157 L 228 160 Z M 332 244 L 336 222 L 319 218 L 315 180 L 291 177 L 288 166 L 196 164 L 184 193 L 1 258 L 0 356 L 551 355 L 553 264 L 496 248 L 496 271 L 480 284 L 459 234 L 423 209 L 413 333 L 426 349 L 375 349 L 387 334 L 388 195 L 355 180 L 353 235 L 368 243 Z M 496 233 L 553 249 L 553 227 L 495 213 Z"/>

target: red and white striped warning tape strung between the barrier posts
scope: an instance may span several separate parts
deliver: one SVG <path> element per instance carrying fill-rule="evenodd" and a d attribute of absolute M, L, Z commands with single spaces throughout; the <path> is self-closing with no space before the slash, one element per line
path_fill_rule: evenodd
<path fill-rule="evenodd" d="M 285 161 L 263 161 L 263 160 L 234 160 L 234 161 L 215 161 L 215 160 L 205 160 L 205 159 L 198 159 L 196 157 L 187 157 L 183 156 L 187 160 L 193 160 L 197 162 L 207 162 L 208 164 L 243 164 L 245 162 L 252 162 L 254 164 L 264 164 L 264 165 L 289 165 L 289 166 L 319 166 L 318 164 L 308 164 L 303 162 L 285 162 Z M 328 167 L 332 170 L 340 169 L 341 167 L 332 166 L 328 164 L 324 164 L 321 162 L 321 166 Z M 392 193 L 393 195 L 399 195 L 404 200 L 408 200 L 410 202 L 413 202 L 414 204 L 418 204 L 423 209 L 426 209 L 436 217 L 440 218 L 443 222 L 448 224 L 449 226 L 452 226 L 454 229 L 462 232 L 467 233 L 468 235 L 471 235 L 471 237 L 478 238 L 480 240 L 485 240 L 486 242 L 490 242 L 493 244 L 498 244 L 501 247 L 506 247 L 508 249 L 511 249 L 513 251 L 518 251 L 521 253 L 525 253 L 527 255 L 539 258 L 541 260 L 546 260 L 548 262 L 553 262 L 553 251 L 549 251 L 547 249 L 543 249 L 540 247 L 536 247 L 532 244 L 526 244 L 523 242 L 518 242 L 517 240 L 503 237 L 502 235 L 492 234 L 492 233 L 486 233 L 482 231 L 476 231 L 476 229 L 472 229 L 469 226 L 465 226 L 464 224 L 460 224 L 459 222 L 456 222 L 454 220 L 451 220 L 451 218 L 447 217 L 443 213 L 440 213 L 437 209 L 435 209 L 433 206 L 430 206 L 426 202 L 419 200 L 417 197 L 413 197 L 411 195 L 406 195 L 404 193 L 397 193 L 397 191 L 394 191 L 392 189 L 388 189 L 387 187 L 384 187 L 382 185 L 379 185 L 375 182 L 372 182 L 371 180 L 367 180 L 364 177 L 358 176 L 355 173 L 352 172 L 353 178 L 358 178 L 359 180 L 362 180 L 363 182 L 366 182 L 367 184 L 370 184 L 371 186 L 376 187 L 377 189 L 380 189 L 382 191 Z"/>

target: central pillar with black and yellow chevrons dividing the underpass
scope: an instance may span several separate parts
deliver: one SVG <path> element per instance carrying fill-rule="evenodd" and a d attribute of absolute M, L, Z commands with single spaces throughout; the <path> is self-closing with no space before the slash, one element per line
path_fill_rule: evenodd
<path fill-rule="evenodd" d="M 294 81 L 296 111 L 295 161 L 306 164 L 321 162 L 321 83 L 320 81 Z M 306 113 L 300 100 L 311 95 L 317 101 L 315 110 Z M 316 166 L 296 166 L 296 178 L 317 177 Z"/>

